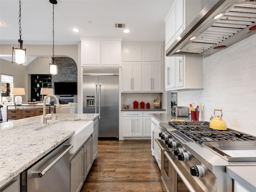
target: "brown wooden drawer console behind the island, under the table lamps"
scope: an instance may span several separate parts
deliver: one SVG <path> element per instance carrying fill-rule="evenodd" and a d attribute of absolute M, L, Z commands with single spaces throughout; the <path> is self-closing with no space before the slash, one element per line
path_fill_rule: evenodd
<path fill-rule="evenodd" d="M 55 105 L 46 106 L 46 113 L 55 113 Z M 27 117 L 34 117 L 43 114 L 43 106 L 28 106 L 28 105 L 19 105 L 19 106 L 7 106 L 7 121 L 12 119 L 23 119 Z"/>

